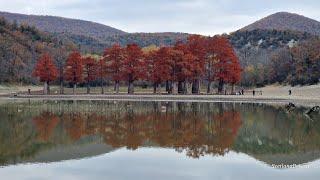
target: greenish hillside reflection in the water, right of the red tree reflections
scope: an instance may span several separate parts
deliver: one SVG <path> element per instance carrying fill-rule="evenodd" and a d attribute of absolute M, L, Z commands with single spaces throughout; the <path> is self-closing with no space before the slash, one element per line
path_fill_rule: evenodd
<path fill-rule="evenodd" d="M 239 107 L 243 125 L 234 145 L 235 150 L 248 154 L 285 154 L 320 149 L 319 114 L 310 121 L 297 108 L 287 112 L 283 106 L 243 104 Z"/>

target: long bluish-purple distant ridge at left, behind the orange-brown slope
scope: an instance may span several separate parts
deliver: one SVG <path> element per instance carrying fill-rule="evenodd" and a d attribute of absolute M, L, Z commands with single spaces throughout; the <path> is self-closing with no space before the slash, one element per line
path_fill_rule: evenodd
<path fill-rule="evenodd" d="M 72 42 L 84 53 L 101 53 L 113 44 L 125 46 L 136 43 L 142 47 L 149 45 L 173 45 L 177 40 L 186 40 L 186 33 L 126 33 L 110 26 L 55 16 L 36 16 L 0 12 L 10 23 L 28 24 L 40 31 L 52 33 L 64 42 Z"/>

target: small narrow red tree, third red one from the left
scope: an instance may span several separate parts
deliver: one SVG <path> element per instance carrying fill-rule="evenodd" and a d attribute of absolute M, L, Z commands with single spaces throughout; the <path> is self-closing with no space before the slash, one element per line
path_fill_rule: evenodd
<path fill-rule="evenodd" d="M 87 84 L 87 94 L 90 94 L 90 83 L 97 79 L 98 64 L 92 57 L 86 57 L 83 59 L 84 66 L 84 80 Z"/>

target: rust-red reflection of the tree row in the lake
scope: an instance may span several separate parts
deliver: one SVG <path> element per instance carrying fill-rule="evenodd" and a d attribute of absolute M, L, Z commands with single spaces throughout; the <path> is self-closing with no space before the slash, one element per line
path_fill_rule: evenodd
<path fill-rule="evenodd" d="M 209 113 L 209 118 L 197 111 L 135 112 L 127 108 L 100 115 L 97 112 L 63 112 L 60 116 L 44 112 L 34 118 L 38 136 L 48 140 L 58 122 L 73 140 L 99 135 L 114 148 L 137 149 L 141 146 L 159 146 L 186 151 L 188 156 L 205 154 L 224 155 L 229 151 L 241 125 L 240 113 L 231 109 Z M 162 106 L 160 106 L 161 108 Z M 192 106 L 190 106 L 193 108 Z M 163 108 L 163 107 L 162 107 Z M 59 120 L 60 119 L 60 120 Z"/>

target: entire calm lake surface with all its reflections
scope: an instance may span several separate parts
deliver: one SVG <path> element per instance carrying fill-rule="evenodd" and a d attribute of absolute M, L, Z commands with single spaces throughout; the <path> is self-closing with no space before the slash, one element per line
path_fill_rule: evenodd
<path fill-rule="evenodd" d="M 0 101 L 0 178 L 319 179 L 320 116 L 305 111 L 240 103 Z"/>

